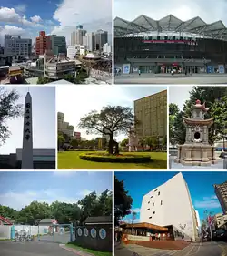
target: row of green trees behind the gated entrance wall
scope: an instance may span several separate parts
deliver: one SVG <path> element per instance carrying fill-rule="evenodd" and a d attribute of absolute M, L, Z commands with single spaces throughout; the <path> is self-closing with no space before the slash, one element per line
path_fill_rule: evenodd
<path fill-rule="evenodd" d="M 101 195 L 93 192 L 77 203 L 33 201 L 19 211 L 0 205 L 0 215 L 17 224 L 37 225 L 42 219 L 56 219 L 60 224 L 75 222 L 83 225 L 87 217 L 112 215 L 112 192 L 105 190 Z"/>

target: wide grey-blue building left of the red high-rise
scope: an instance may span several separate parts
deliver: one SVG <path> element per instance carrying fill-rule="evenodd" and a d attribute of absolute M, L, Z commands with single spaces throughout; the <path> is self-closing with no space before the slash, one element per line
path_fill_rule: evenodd
<path fill-rule="evenodd" d="M 29 57 L 32 54 L 32 39 L 5 35 L 5 56 Z"/>

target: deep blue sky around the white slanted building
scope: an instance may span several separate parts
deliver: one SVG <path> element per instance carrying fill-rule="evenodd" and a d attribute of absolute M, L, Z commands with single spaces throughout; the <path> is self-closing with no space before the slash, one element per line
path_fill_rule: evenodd
<path fill-rule="evenodd" d="M 133 198 L 132 210 L 137 212 L 136 220 L 140 220 L 140 208 L 143 196 L 151 190 L 159 187 L 168 179 L 173 178 L 178 172 L 173 171 L 115 171 L 115 176 L 119 180 L 124 180 L 124 187 Z M 200 220 L 203 220 L 204 210 L 213 214 L 222 213 L 219 200 L 214 193 L 213 184 L 221 184 L 227 181 L 227 172 L 224 171 L 184 171 L 183 178 L 188 184 L 195 210 L 198 210 Z M 141 185 L 140 185 L 141 184 Z M 132 215 L 128 215 L 124 220 L 132 221 Z"/>

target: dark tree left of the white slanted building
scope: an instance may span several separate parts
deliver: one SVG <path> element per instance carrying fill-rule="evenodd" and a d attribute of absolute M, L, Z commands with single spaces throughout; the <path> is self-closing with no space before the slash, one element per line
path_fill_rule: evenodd
<path fill-rule="evenodd" d="M 123 180 L 119 180 L 114 177 L 114 222 L 115 225 L 119 223 L 119 220 L 124 216 L 131 213 L 133 199 L 128 194 L 128 191 L 124 188 Z"/>

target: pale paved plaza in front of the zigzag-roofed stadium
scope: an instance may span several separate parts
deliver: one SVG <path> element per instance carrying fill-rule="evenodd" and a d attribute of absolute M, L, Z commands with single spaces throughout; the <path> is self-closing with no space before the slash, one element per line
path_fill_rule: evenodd
<path fill-rule="evenodd" d="M 129 74 L 114 77 L 115 84 L 227 84 L 227 74 L 192 74 L 192 76 L 170 74 Z"/>

